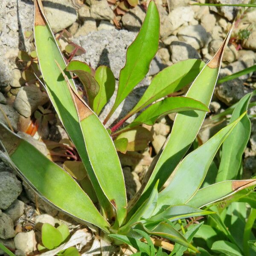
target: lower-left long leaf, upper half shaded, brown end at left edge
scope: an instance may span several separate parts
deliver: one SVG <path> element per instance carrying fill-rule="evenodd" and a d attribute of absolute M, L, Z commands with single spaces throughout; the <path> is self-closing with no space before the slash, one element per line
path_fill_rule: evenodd
<path fill-rule="evenodd" d="M 108 231 L 108 222 L 76 181 L 61 167 L 1 123 L 0 142 L 9 155 L 6 157 L 9 163 L 12 166 L 14 163 L 17 167 L 15 170 L 42 199 L 74 218 Z"/>

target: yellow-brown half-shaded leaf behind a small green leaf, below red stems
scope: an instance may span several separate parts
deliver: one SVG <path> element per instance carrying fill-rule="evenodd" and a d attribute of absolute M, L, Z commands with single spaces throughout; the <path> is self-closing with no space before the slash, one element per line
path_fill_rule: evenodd
<path fill-rule="evenodd" d="M 116 140 L 122 138 L 128 140 L 127 151 L 143 150 L 148 146 L 148 142 L 153 140 L 151 132 L 141 126 L 122 132 L 116 137 Z"/>

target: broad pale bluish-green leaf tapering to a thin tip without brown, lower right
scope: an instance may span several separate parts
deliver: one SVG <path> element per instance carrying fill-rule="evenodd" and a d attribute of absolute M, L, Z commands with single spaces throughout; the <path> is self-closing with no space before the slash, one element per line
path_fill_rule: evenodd
<path fill-rule="evenodd" d="M 186 204 L 195 195 L 204 181 L 216 152 L 244 115 L 245 113 L 235 122 L 221 129 L 180 162 L 169 185 L 159 193 L 158 209 L 164 205 Z"/>

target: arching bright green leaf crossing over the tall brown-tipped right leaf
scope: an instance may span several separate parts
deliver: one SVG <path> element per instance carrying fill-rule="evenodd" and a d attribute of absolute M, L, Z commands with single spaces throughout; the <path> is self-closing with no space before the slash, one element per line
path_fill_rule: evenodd
<path fill-rule="evenodd" d="M 201 110 L 209 112 L 209 109 L 206 105 L 194 99 L 181 96 L 169 97 L 148 107 L 136 119 L 134 119 L 134 121 L 128 125 L 128 127 L 132 128 L 142 123 L 147 125 L 154 125 L 156 120 L 161 116 L 189 110 Z"/>

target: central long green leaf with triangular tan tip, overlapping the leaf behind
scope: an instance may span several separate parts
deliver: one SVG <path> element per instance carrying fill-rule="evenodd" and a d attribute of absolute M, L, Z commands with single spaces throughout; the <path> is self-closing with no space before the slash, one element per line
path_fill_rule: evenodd
<path fill-rule="evenodd" d="M 116 220 L 121 225 L 126 215 L 127 201 L 125 181 L 113 140 L 98 116 L 90 110 L 71 86 L 69 88 L 93 171 L 102 191 L 116 209 Z"/>

